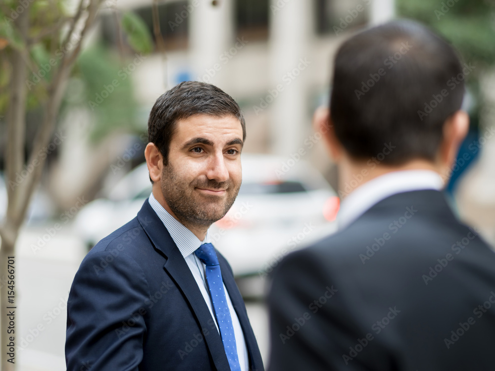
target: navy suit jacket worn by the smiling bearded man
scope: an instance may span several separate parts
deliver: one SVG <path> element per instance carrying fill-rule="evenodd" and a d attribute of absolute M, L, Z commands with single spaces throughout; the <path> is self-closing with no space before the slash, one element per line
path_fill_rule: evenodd
<path fill-rule="evenodd" d="M 232 270 L 217 254 L 249 367 L 263 370 Z M 198 285 L 148 200 L 81 263 L 67 301 L 65 357 L 68 371 L 230 370 Z"/>

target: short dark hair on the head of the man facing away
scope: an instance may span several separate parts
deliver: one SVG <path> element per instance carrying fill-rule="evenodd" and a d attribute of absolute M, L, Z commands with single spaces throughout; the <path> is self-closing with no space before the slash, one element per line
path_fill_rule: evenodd
<path fill-rule="evenodd" d="M 352 160 L 385 153 L 383 165 L 434 162 L 469 72 L 446 41 L 418 23 L 398 20 L 361 32 L 335 58 L 335 138 Z"/>

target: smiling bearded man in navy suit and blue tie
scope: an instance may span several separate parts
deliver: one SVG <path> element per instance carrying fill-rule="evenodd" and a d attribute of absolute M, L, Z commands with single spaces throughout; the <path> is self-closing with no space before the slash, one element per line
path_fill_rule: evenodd
<path fill-rule="evenodd" d="M 207 233 L 241 185 L 241 110 L 213 85 L 184 82 L 156 100 L 148 139 L 149 198 L 72 283 L 67 370 L 263 370 L 232 270 Z"/>

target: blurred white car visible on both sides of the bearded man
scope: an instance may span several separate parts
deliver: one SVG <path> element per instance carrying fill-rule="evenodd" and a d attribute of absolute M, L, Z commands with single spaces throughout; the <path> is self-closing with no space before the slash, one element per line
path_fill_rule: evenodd
<path fill-rule="evenodd" d="M 292 166 L 290 166 L 290 165 Z M 264 277 L 290 251 L 336 230 L 339 198 L 309 163 L 242 155 L 243 183 L 234 205 L 209 230 L 236 276 Z M 136 216 L 151 192 L 146 163 L 77 215 L 75 231 L 92 246 Z"/>

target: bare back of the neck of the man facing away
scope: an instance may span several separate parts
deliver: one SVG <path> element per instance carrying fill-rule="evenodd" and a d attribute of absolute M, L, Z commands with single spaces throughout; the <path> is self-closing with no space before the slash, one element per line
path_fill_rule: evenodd
<path fill-rule="evenodd" d="M 404 170 L 431 170 L 438 174 L 442 173 L 436 164 L 422 159 L 412 160 L 399 166 L 389 166 L 380 164 L 376 159 L 355 161 L 345 156 L 339 163 L 339 188 L 342 191 L 339 194 L 346 196 L 372 179 Z"/>

